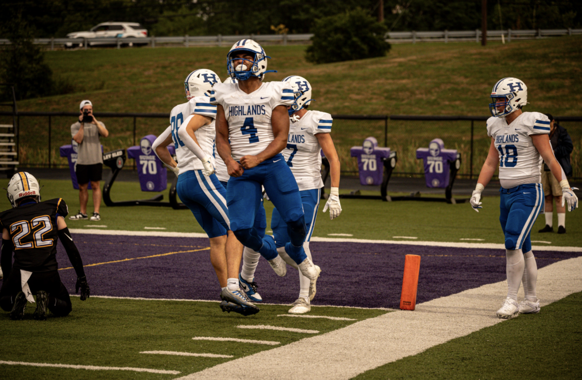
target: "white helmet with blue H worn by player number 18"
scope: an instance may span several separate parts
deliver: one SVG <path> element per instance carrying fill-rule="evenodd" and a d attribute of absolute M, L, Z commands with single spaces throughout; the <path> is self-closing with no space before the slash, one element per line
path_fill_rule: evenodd
<path fill-rule="evenodd" d="M 504 118 L 527 104 L 527 86 L 517 78 L 503 78 L 493 86 L 491 98 L 493 103 L 489 103 L 489 112 L 494 117 Z M 500 98 L 505 101 L 497 102 Z"/>

